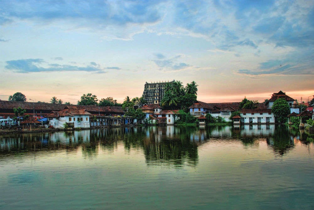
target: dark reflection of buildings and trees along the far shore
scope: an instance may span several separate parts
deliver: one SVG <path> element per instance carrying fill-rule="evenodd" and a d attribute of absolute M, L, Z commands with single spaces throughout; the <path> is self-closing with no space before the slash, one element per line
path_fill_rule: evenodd
<path fill-rule="evenodd" d="M 295 141 L 307 144 L 313 141 L 313 135 L 275 125 L 214 126 L 202 129 L 152 126 L 24 133 L 0 136 L 0 158 L 53 150 L 79 151 L 86 158 L 95 157 L 100 151 L 115 151 L 117 142 L 123 142 L 125 151 L 142 151 L 148 165 L 195 166 L 198 164 L 198 146 L 219 139 L 240 140 L 245 146 L 265 141 L 275 153 L 284 155 L 294 147 Z"/>

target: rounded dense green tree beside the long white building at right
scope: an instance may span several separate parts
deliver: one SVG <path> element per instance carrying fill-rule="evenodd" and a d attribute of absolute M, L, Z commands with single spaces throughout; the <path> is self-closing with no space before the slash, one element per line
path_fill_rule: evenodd
<path fill-rule="evenodd" d="M 285 123 L 288 119 L 290 113 L 290 107 L 285 99 L 277 99 L 273 103 L 272 112 L 276 117 L 277 121 L 280 123 Z"/>

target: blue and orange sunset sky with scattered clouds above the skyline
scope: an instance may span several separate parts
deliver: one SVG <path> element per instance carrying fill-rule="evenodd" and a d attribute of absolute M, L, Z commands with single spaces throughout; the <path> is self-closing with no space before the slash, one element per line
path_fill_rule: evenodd
<path fill-rule="evenodd" d="M 0 0 L 0 99 L 123 102 L 175 79 L 208 103 L 306 101 L 313 47 L 312 0 Z"/>

